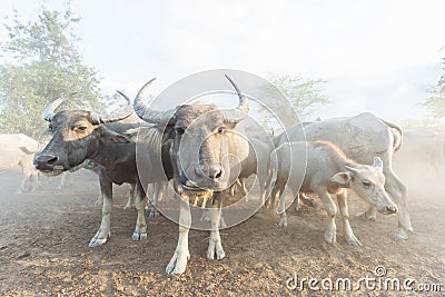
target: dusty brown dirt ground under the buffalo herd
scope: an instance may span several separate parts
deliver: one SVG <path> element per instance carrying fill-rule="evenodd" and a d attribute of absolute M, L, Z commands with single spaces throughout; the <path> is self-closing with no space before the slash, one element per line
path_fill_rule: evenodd
<path fill-rule="evenodd" d="M 434 194 L 411 189 L 415 231 L 396 241 L 396 217 L 367 221 L 366 209 L 350 199 L 352 226 L 362 247 L 347 245 L 340 219 L 337 244 L 324 244 L 326 215 L 322 207 L 288 211 L 288 227 L 260 212 L 221 231 L 226 258 L 206 259 L 208 232 L 191 230 L 191 258 L 180 276 L 165 274 L 176 248 L 178 227 L 164 217 L 149 219 L 148 240 L 134 242 L 136 210 L 123 210 L 127 187 L 116 187 L 111 238 L 99 248 L 88 242 L 100 225 L 97 177 L 86 170 L 72 175 L 72 186 L 56 190 L 58 177 L 42 179 L 38 191 L 17 195 L 19 171 L 0 172 L 0 295 L 1 296 L 444 296 L 445 197 L 441 181 Z M 386 275 L 377 277 L 377 266 Z M 295 288 L 295 279 L 375 278 L 385 283 L 409 278 L 412 286 L 442 284 L 442 293 L 399 293 L 360 285 L 359 291 Z M 329 280 L 328 279 L 328 280 Z M 325 287 L 329 287 L 325 280 Z M 375 283 L 375 284 L 376 284 Z M 375 285 L 374 284 L 374 285 Z M 377 284 L 378 285 L 378 284 Z M 294 287 L 293 287 L 294 286 Z M 316 289 L 316 288 L 315 288 Z"/>

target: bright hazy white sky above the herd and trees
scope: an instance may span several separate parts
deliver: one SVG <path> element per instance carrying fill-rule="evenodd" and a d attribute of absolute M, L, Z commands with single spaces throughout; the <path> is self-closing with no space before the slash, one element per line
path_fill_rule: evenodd
<path fill-rule="evenodd" d="M 62 9 L 62 1 L 47 7 Z M 1 0 L 34 18 L 41 1 Z M 231 68 L 327 80 L 332 103 L 314 116 L 372 111 L 400 121 L 425 117 L 418 105 L 444 72 L 445 1 L 390 0 L 71 0 L 77 33 L 102 90 L 135 96 L 152 77 L 157 95 L 185 76 Z M 3 30 L 3 28 L 1 28 Z M 1 34 L 3 36 L 3 34 Z"/>

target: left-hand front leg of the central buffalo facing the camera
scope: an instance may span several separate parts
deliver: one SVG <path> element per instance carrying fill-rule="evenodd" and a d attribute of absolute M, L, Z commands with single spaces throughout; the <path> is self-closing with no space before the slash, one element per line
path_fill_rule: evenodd
<path fill-rule="evenodd" d="M 166 274 L 182 274 L 190 258 L 188 250 L 188 231 L 191 225 L 191 214 L 188 196 L 178 196 L 179 200 L 179 238 L 174 256 L 166 267 Z"/>

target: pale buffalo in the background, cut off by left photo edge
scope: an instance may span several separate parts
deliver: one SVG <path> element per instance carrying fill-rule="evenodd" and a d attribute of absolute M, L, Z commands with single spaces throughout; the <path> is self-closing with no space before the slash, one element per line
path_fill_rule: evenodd
<path fill-rule="evenodd" d="M 39 143 L 32 138 L 18 135 L 0 135 L 0 170 L 9 169 L 19 165 L 21 167 L 22 177 L 18 194 L 27 190 L 27 181 L 31 181 L 32 190 L 38 188 L 38 174 L 32 166 L 34 154 L 39 149 Z"/>

